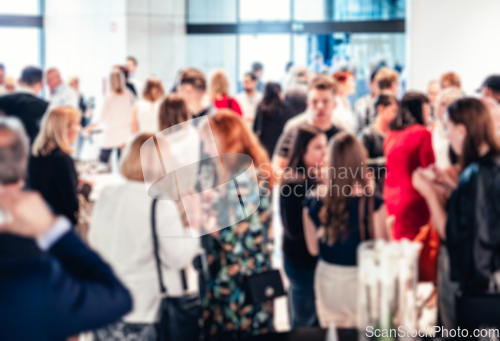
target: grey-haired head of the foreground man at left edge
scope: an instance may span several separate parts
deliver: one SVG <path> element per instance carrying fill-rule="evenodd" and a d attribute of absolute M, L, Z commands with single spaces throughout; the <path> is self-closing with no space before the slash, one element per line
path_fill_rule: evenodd
<path fill-rule="evenodd" d="M 29 140 L 21 121 L 0 117 L 0 186 L 22 188 L 29 157 Z"/>

